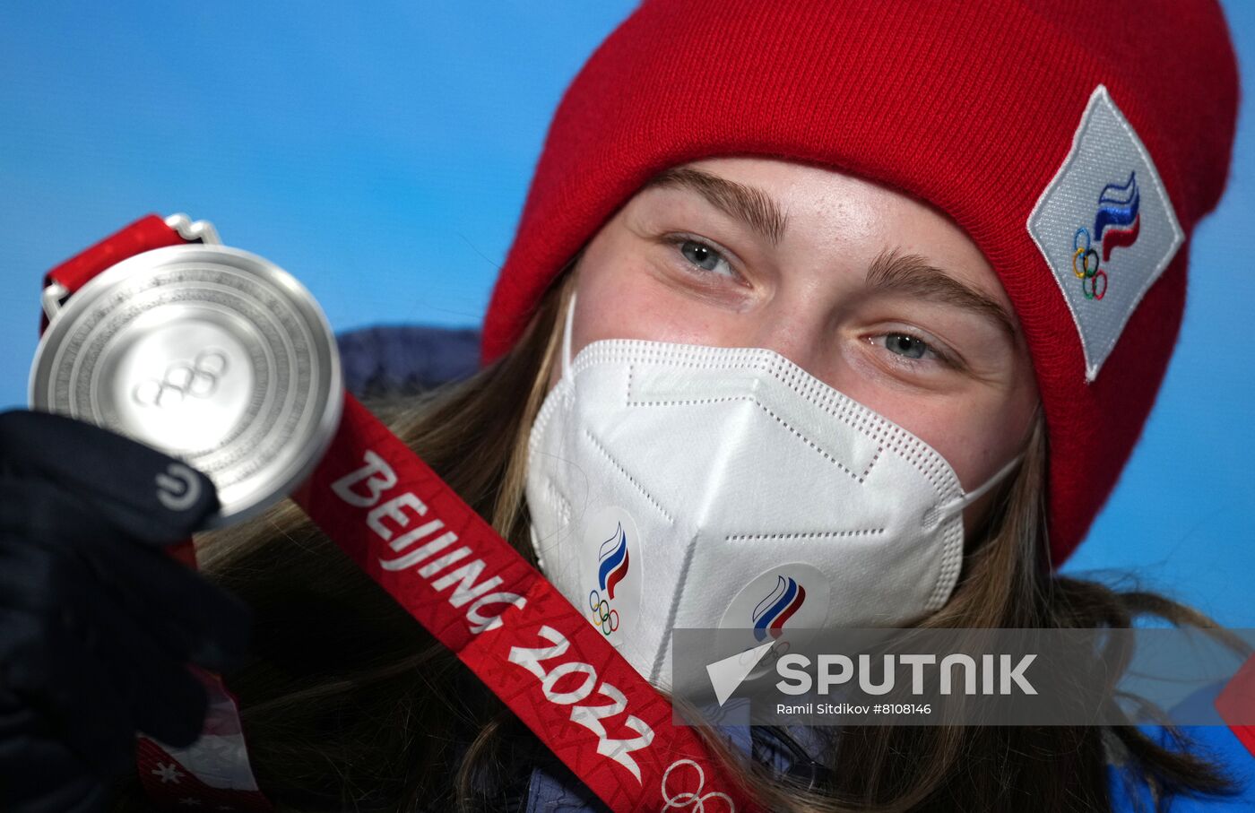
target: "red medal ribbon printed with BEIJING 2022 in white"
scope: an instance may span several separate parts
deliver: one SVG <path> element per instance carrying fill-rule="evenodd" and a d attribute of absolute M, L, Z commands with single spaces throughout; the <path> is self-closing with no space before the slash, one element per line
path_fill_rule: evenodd
<path fill-rule="evenodd" d="M 148 216 L 58 266 L 45 282 L 73 292 L 133 253 L 181 242 Z M 694 730 L 673 724 L 670 703 L 430 467 L 351 394 L 344 398 L 326 454 L 291 496 L 310 518 L 611 809 L 754 809 Z M 190 541 L 183 551 L 188 561 Z M 212 681 L 221 680 L 201 676 L 213 700 Z M 242 757 L 233 714 L 211 703 L 207 726 L 217 725 L 218 744 Z M 192 787 L 203 783 L 148 738 L 141 738 L 139 763 L 149 794 L 174 809 L 188 804 L 179 793 L 269 809 L 255 784 Z"/>

